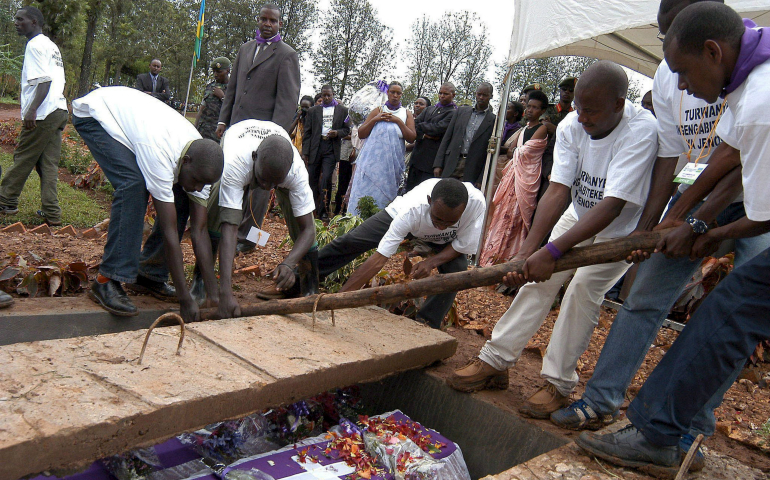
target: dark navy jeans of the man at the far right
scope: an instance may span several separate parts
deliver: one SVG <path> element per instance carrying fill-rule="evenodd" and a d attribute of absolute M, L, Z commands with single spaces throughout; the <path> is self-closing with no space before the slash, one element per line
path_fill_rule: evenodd
<path fill-rule="evenodd" d="M 770 337 L 770 249 L 736 268 L 706 298 L 628 407 L 657 445 L 676 445 L 757 343 Z"/>

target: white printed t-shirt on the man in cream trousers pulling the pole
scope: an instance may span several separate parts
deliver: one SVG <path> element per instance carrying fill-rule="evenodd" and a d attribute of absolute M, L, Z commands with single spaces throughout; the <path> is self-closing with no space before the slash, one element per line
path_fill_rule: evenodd
<path fill-rule="evenodd" d="M 624 237 L 642 214 L 657 151 L 655 117 L 628 100 L 620 123 L 598 140 L 591 139 L 572 112 L 556 129 L 551 183 L 571 188 L 578 219 L 604 197 L 625 200 L 620 215 L 598 234 Z"/>

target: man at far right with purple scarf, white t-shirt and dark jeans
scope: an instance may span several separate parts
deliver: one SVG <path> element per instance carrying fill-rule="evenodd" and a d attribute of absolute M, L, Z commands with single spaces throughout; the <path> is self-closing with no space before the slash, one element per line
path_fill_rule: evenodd
<path fill-rule="evenodd" d="M 753 22 L 752 22 L 753 24 Z M 726 238 L 770 231 L 770 32 L 741 21 L 721 3 L 690 5 L 676 16 L 663 51 L 677 85 L 707 102 L 720 97 L 729 110 L 717 127 L 726 149 L 736 155 L 713 155 L 708 167 L 671 208 L 666 221 L 682 223 L 692 215 L 708 227 L 716 213 L 732 201 L 725 192 L 743 184 L 746 216 L 697 233 L 687 255 L 713 253 Z M 720 148 L 722 147 L 720 146 Z M 663 224 L 661 224 L 663 225 Z M 669 234 L 658 250 L 669 251 Z M 631 425 L 613 434 L 583 432 L 578 445 L 613 463 L 644 467 L 645 472 L 673 476 L 680 468 L 677 446 L 693 420 L 718 394 L 726 379 L 770 337 L 770 249 L 735 268 L 698 307 L 663 360 L 628 407 Z M 614 328 L 614 327 L 613 327 Z"/>

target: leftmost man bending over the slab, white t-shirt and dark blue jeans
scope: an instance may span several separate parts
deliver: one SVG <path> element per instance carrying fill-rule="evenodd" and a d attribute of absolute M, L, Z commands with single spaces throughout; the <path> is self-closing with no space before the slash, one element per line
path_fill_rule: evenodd
<path fill-rule="evenodd" d="M 73 101 L 72 124 L 115 189 L 107 244 L 89 296 L 114 315 L 136 315 L 120 285 L 126 282 L 133 290 L 178 298 L 184 321 L 198 320 L 179 241 L 189 218 L 195 256 L 206 265 L 205 287 L 216 292 L 208 194 L 202 190 L 222 176 L 222 149 L 202 139 L 173 108 L 126 87 L 100 88 Z M 148 192 L 157 218 L 142 249 Z M 176 289 L 166 283 L 169 270 Z"/>

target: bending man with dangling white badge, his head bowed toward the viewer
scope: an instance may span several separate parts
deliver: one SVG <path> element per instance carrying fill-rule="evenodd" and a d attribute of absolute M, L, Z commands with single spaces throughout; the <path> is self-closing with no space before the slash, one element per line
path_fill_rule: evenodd
<path fill-rule="evenodd" d="M 222 181 L 211 189 L 209 231 L 221 232 L 219 249 L 219 316 L 240 315 L 233 296 L 232 271 L 238 225 L 243 211 L 257 212 L 254 223 L 262 226 L 270 199 L 275 196 L 289 229 L 294 247 L 268 276 L 275 287 L 258 294 L 261 298 L 280 298 L 318 293 L 318 245 L 315 240 L 313 191 L 308 183 L 305 162 L 291 144 L 289 135 L 273 122 L 243 120 L 230 127 L 223 139 L 225 168 Z M 267 195 L 264 205 L 244 206 L 244 189 L 258 188 Z M 246 198 L 254 198 L 249 195 Z M 264 245 L 265 232 L 252 228 L 249 240 Z"/>

